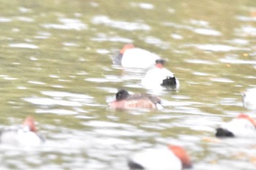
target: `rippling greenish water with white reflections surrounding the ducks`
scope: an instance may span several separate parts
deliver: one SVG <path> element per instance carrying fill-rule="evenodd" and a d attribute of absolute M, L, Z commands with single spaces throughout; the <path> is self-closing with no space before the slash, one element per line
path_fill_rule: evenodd
<path fill-rule="evenodd" d="M 232 3 L 232 5 L 231 5 Z M 1 169 L 128 169 L 127 157 L 179 144 L 194 169 L 255 169 L 252 139 L 208 141 L 255 87 L 256 3 L 248 1 L 1 1 L 1 127 L 32 115 L 47 142 L 0 147 Z M 140 86 L 113 66 L 127 43 L 157 53 L 179 90 Z M 118 88 L 154 93 L 165 109 L 114 111 Z"/>

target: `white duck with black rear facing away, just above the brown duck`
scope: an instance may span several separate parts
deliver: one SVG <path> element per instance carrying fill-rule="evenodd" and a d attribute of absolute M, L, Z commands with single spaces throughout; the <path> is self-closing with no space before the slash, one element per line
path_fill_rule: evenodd
<path fill-rule="evenodd" d="M 178 88 L 179 81 L 170 70 L 164 67 L 165 61 L 158 59 L 155 66 L 146 72 L 141 80 L 141 85 L 146 88 L 170 87 Z"/>

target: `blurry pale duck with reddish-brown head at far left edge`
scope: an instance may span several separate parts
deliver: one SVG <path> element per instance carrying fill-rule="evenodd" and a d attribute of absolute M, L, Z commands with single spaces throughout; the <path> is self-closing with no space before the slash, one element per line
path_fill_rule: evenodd
<path fill-rule="evenodd" d="M 45 139 L 37 134 L 34 117 L 26 117 L 22 125 L 11 126 L 0 131 L 0 144 L 16 146 L 39 146 Z"/>

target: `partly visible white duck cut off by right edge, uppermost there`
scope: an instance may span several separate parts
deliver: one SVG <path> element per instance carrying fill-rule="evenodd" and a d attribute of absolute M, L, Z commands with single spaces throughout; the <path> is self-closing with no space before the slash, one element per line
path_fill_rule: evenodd
<path fill-rule="evenodd" d="M 242 93 L 242 101 L 244 107 L 256 110 L 256 88 L 249 88 Z"/>

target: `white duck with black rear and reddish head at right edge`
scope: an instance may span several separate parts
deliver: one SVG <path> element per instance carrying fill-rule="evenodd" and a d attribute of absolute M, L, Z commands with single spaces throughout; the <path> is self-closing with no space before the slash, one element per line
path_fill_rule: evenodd
<path fill-rule="evenodd" d="M 217 137 L 256 137 L 256 121 L 249 115 L 240 114 L 233 120 L 223 123 L 216 130 Z"/>

